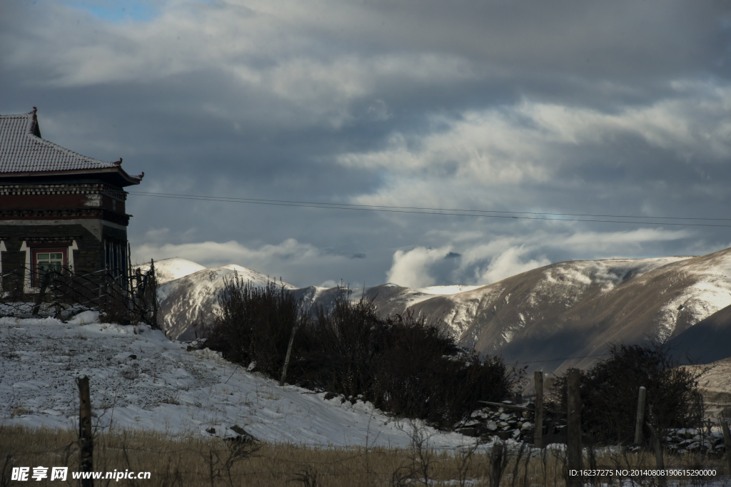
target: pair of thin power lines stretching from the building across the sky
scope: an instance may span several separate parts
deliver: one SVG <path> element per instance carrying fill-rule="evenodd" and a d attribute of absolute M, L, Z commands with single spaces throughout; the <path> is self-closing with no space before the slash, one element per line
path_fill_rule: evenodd
<path fill-rule="evenodd" d="M 451 215 L 479 218 L 512 218 L 515 220 L 545 220 L 545 221 L 586 221 L 599 223 L 633 223 L 636 225 L 672 225 L 672 226 L 717 226 L 731 228 L 731 225 L 720 225 L 713 223 L 673 223 L 654 221 L 618 221 L 618 220 L 596 220 L 591 218 L 544 218 L 515 215 L 557 215 L 557 216 L 592 216 L 597 218 L 643 218 L 662 220 L 692 220 L 692 221 L 731 221 L 731 218 L 699 218 L 699 217 L 654 217 L 654 216 L 632 216 L 632 215 L 592 215 L 580 213 L 542 213 L 542 212 L 514 212 L 499 210 L 460 210 L 430 207 L 391 207 L 384 205 L 346 204 L 346 203 L 324 203 L 324 202 L 300 202 L 283 199 L 255 199 L 255 198 L 232 198 L 228 196 L 203 196 L 194 194 L 178 193 L 148 193 L 143 191 L 129 191 L 137 196 L 153 196 L 156 198 L 169 199 L 192 199 L 194 201 L 230 202 L 243 204 L 266 204 L 271 206 L 322 208 L 326 210 L 352 210 L 372 211 L 390 213 L 414 213 L 420 215 Z M 459 213 L 458 213 L 459 212 Z M 484 213 L 500 213 L 500 215 L 485 215 Z"/>

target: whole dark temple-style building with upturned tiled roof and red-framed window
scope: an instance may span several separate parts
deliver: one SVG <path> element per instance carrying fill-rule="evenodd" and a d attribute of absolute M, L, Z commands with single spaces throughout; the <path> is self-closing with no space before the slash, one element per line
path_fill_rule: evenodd
<path fill-rule="evenodd" d="M 107 271 L 124 280 L 129 245 L 124 188 L 140 184 L 117 162 L 97 161 L 42 139 L 37 111 L 0 115 L 2 285 L 39 288 L 39 272 Z M 20 270 L 20 274 L 18 272 Z M 15 283 L 19 285 L 20 283 Z"/>

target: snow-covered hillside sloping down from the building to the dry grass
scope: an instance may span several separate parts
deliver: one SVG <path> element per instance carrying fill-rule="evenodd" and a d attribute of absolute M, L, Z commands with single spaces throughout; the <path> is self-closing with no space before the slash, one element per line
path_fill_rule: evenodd
<path fill-rule="evenodd" d="M 74 428 L 75 377 L 88 375 L 94 425 L 170 434 L 235 435 L 308 445 L 409 445 L 409 425 L 369 403 L 325 400 L 280 387 L 211 350 L 187 351 L 148 326 L 119 326 L 83 312 L 53 318 L 0 318 L 0 423 Z M 430 445 L 455 448 L 469 438 L 436 432 Z"/>

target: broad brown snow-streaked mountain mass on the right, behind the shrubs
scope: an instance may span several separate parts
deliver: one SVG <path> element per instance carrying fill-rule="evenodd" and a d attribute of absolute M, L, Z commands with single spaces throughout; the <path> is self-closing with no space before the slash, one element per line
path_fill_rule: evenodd
<path fill-rule="evenodd" d="M 531 368 L 588 367 L 610 343 L 665 340 L 731 304 L 731 249 L 552 264 L 413 309 L 462 345 Z M 558 360 L 570 357 L 586 357 Z"/>

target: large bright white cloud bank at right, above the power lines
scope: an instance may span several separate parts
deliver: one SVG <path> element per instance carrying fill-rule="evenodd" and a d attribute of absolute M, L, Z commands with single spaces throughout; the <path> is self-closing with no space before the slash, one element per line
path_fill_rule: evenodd
<path fill-rule="evenodd" d="M 420 134 L 395 132 L 385 148 L 344 153 L 338 162 L 388 172 L 382 187 L 358 196 L 357 202 L 404 204 L 413 202 L 415 193 L 441 193 L 442 199 L 464 202 L 465 193 L 472 196 L 478 187 L 483 193 L 486 187 L 498 190 L 494 196 L 499 197 L 507 193 L 501 188 L 525 191 L 521 185 L 555 183 L 551 178 L 564 180 L 562 170 L 586 166 L 596 150 L 616 150 L 618 137 L 642 139 L 683 161 L 726 161 L 731 156 L 731 88 L 681 86 L 667 99 L 611 113 L 523 99 L 458 117 L 435 116 Z M 431 185 L 430 191 L 425 185 Z"/>

